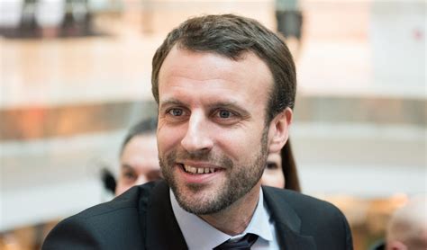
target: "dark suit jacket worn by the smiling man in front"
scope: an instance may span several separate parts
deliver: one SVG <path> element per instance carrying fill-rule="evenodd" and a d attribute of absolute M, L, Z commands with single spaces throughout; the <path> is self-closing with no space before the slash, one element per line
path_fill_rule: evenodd
<path fill-rule="evenodd" d="M 50 231 L 42 250 L 187 249 L 164 181 L 65 219 Z M 282 249 L 352 249 L 350 228 L 332 204 L 297 192 L 263 187 Z"/>

